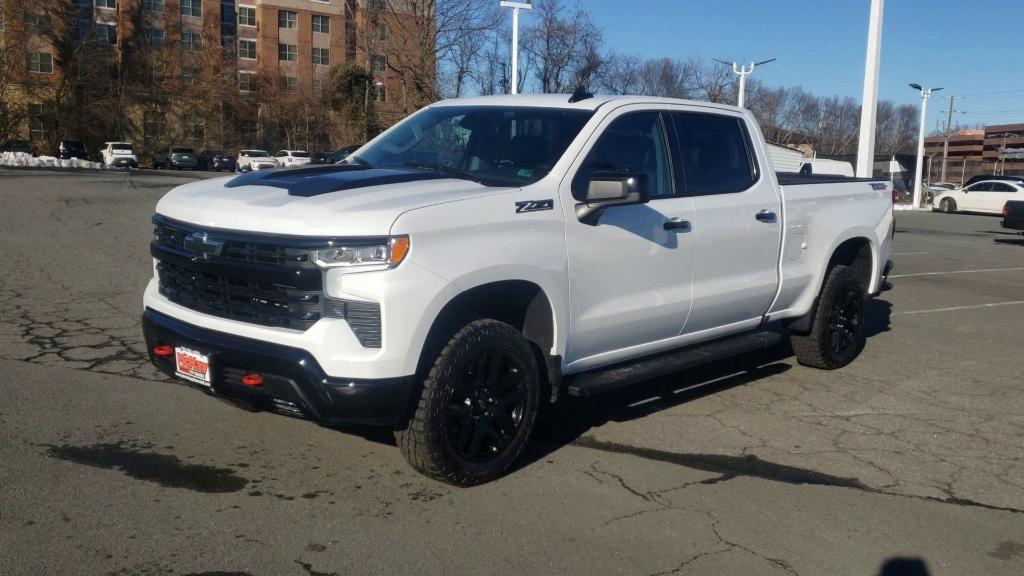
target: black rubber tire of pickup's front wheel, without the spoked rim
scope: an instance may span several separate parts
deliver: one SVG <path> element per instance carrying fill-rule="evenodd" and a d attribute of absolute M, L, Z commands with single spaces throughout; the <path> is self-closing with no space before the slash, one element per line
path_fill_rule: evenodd
<path fill-rule="evenodd" d="M 452 406 L 461 408 L 462 403 L 452 399 L 463 395 L 467 388 L 483 389 L 483 385 L 466 384 L 465 381 L 470 378 L 467 374 L 471 373 L 471 365 L 488 354 L 506 355 L 502 358 L 521 367 L 522 383 L 515 385 L 524 398 L 517 405 L 521 406 L 521 411 L 515 433 L 503 435 L 499 431 L 509 444 L 494 458 L 472 461 L 460 455 L 458 442 L 450 436 L 455 430 L 461 431 L 459 427 L 450 429 L 450 426 L 466 425 L 453 423 Z M 508 374 L 519 378 L 519 369 L 510 369 Z M 518 330 L 497 320 L 473 321 L 452 336 L 437 355 L 423 382 L 415 414 L 403 429 L 395 431 L 398 448 L 410 465 L 434 480 L 456 486 L 490 482 L 505 474 L 529 438 L 540 404 L 540 377 L 530 344 Z M 468 406 L 470 401 L 465 403 Z"/>

